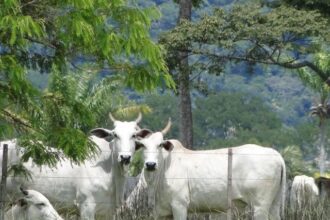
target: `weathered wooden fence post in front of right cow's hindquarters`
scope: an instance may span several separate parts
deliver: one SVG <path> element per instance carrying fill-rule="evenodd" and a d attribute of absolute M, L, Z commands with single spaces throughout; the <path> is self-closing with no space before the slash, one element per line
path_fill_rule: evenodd
<path fill-rule="evenodd" d="M 232 177 L 233 177 L 233 149 L 228 148 L 228 173 L 227 173 L 227 220 L 233 219 L 233 200 L 232 200 Z"/>

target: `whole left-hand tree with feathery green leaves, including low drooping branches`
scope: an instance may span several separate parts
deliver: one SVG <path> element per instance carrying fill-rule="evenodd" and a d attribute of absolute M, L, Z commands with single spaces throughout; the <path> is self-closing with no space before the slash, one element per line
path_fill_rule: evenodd
<path fill-rule="evenodd" d="M 54 150 L 77 163 L 90 156 L 93 105 L 74 94 L 80 85 L 66 75 L 106 70 L 114 80 L 108 88 L 118 81 L 138 90 L 173 86 L 149 36 L 158 17 L 155 8 L 124 0 L 1 1 L 0 137 L 32 137 L 23 139 L 25 156 L 42 163 L 54 164 Z M 30 70 L 51 75 L 48 91 L 30 83 Z"/>

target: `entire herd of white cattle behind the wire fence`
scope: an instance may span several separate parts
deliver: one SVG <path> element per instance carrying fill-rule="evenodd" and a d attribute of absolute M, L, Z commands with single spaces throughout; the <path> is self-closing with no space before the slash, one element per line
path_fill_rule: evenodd
<path fill-rule="evenodd" d="M 6 212 L 5 219 L 62 219 L 48 199 L 68 208 L 77 207 L 80 219 L 115 219 L 116 210 L 129 204 L 132 196 L 138 196 L 141 187 L 146 189 L 143 192 L 155 219 L 185 220 L 190 212 L 228 210 L 227 149 L 192 151 L 178 140 L 164 139 L 170 121 L 162 131 L 151 132 L 138 126 L 141 114 L 130 122 L 118 121 L 111 114 L 110 119 L 114 122 L 112 130 L 91 131 L 90 139 L 100 148 L 95 159 L 83 165 L 63 160 L 56 169 L 29 161 L 24 165 L 32 180 L 8 178 L 8 193 L 17 194 L 22 185 L 27 189 L 21 188 L 23 197 Z M 112 140 L 108 142 L 109 139 Z M 18 148 L 15 140 L 1 142 L 1 146 L 4 143 Z M 125 203 L 128 166 L 139 148 L 143 151 L 144 167 L 136 189 Z M 9 164 L 17 162 L 19 154 L 9 152 Z M 252 144 L 233 147 L 232 152 L 231 198 L 235 207 L 244 210 L 251 206 L 255 220 L 283 219 L 286 167 L 282 156 L 272 148 Z M 314 180 L 306 176 L 296 177 L 291 191 L 293 209 L 318 196 Z"/>

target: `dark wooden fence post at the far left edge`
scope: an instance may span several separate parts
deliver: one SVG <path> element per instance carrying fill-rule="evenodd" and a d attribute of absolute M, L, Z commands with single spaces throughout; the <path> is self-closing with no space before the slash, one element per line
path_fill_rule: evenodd
<path fill-rule="evenodd" d="M 2 154 L 2 175 L 0 183 L 0 220 L 5 219 L 6 194 L 7 194 L 7 161 L 8 161 L 8 145 L 3 145 Z"/>

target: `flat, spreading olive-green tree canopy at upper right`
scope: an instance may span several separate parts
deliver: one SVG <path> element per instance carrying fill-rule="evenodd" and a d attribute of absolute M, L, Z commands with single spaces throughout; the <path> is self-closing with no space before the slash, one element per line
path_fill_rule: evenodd
<path fill-rule="evenodd" d="M 177 52 L 184 50 L 189 52 L 191 63 L 198 64 L 193 65 L 195 71 L 219 74 L 229 61 L 313 68 L 306 55 L 317 52 L 327 39 L 327 20 L 320 13 L 243 4 L 229 10 L 215 9 L 196 22 L 182 23 L 164 34 L 160 42 L 167 49 L 171 69 L 178 65 Z M 313 70 L 324 74 L 318 68 Z"/>

